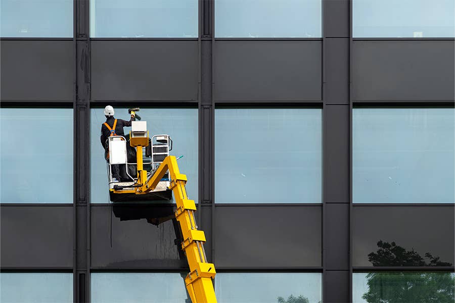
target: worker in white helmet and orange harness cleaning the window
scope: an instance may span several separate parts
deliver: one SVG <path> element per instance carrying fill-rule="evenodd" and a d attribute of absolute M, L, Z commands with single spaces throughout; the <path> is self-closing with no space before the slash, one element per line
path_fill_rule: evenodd
<path fill-rule="evenodd" d="M 123 132 L 123 127 L 131 127 L 131 121 L 135 121 L 135 112 L 134 111 L 129 111 L 131 114 L 131 117 L 129 121 L 122 120 L 122 119 L 115 119 L 114 118 L 114 108 L 110 105 L 104 108 L 104 115 L 106 116 L 106 122 L 101 125 L 101 145 L 103 145 L 103 148 L 105 149 L 106 153 L 108 153 L 108 146 L 106 145 L 106 140 L 109 136 L 123 136 L 125 137 L 125 133 Z M 129 139 L 126 138 L 127 140 Z M 130 147 L 129 144 L 126 144 L 126 148 Z M 130 147 L 133 148 L 133 147 Z M 128 152 L 127 150 L 127 155 L 130 155 L 131 153 Z M 135 151 L 134 151 L 135 154 Z M 130 162 L 130 159 L 128 159 L 128 162 Z M 133 161 L 135 162 L 135 161 Z M 128 176 L 126 175 L 126 169 L 122 165 L 119 167 L 118 164 L 112 165 L 112 177 L 113 181 L 123 181 L 125 179 L 128 179 Z M 126 180 L 127 181 L 127 180 Z"/>

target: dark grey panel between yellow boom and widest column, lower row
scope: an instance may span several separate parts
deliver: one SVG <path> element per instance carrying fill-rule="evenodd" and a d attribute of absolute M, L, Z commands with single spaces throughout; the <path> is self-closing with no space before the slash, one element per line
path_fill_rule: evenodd
<path fill-rule="evenodd" d="M 216 206 L 218 268 L 321 266 L 321 206 Z"/>

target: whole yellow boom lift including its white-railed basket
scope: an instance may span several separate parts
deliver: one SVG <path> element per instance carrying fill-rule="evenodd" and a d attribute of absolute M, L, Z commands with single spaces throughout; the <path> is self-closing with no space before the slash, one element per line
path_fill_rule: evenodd
<path fill-rule="evenodd" d="M 136 163 L 128 163 L 126 138 L 111 136 L 108 138 L 109 159 L 109 191 L 112 201 L 128 201 L 137 197 L 140 200 L 153 200 L 156 196 L 173 193 L 177 205 L 174 212 L 179 222 L 184 241 L 181 249 L 185 252 L 190 267 L 190 273 L 185 278 L 185 284 L 193 303 L 216 303 L 212 280 L 215 278 L 215 266 L 207 262 L 204 250 L 205 234 L 198 230 L 194 212 L 196 204 L 188 198 L 186 183 L 187 176 L 178 170 L 177 159 L 169 156 L 172 140 L 168 135 L 155 135 L 149 138 L 147 122 L 133 121 L 129 145 L 136 150 Z M 151 146 L 149 146 L 151 145 Z M 148 148 L 144 148 L 148 147 Z M 150 148 L 152 147 L 152 148 Z M 148 155 L 147 151 L 148 150 Z M 144 169 L 144 156 L 151 156 L 150 171 Z M 112 165 L 136 165 L 137 175 L 131 177 L 131 182 L 113 182 Z M 128 174 L 128 173 L 127 173 Z M 128 174 L 129 175 L 129 174 Z M 165 178 L 167 177 L 167 178 Z M 122 198 L 123 196 L 129 198 Z M 169 196 L 169 195 L 168 195 Z"/>

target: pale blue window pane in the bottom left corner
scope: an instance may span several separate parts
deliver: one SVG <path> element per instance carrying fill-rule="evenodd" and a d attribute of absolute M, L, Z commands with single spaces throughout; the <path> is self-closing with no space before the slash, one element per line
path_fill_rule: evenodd
<path fill-rule="evenodd" d="M 1 273 L 2 303 L 49 303 L 73 301 L 72 273 Z"/>

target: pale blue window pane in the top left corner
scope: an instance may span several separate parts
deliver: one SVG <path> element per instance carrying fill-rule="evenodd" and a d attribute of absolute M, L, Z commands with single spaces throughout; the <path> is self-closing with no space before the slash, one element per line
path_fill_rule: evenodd
<path fill-rule="evenodd" d="M 73 0 L 2 0 L 2 37 L 70 38 Z"/>

